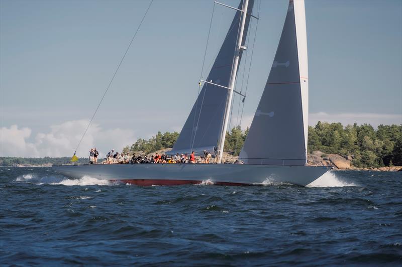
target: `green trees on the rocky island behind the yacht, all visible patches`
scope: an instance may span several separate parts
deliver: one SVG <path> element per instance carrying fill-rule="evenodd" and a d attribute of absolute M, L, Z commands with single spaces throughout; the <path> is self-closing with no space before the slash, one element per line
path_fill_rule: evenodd
<path fill-rule="evenodd" d="M 233 127 L 226 133 L 224 151 L 238 156 L 249 128 Z M 158 132 L 148 140 L 138 139 L 123 149 L 124 153 L 146 154 L 173 147 L 177 132 Z M 402 166 L 402 125 L 379 125 L 374 129 L 370 124 L 343 126 L 342 123 L 319 121 L 309 126 L 308 153 L 319 150 L 352 158 L 355 167 Z"/>

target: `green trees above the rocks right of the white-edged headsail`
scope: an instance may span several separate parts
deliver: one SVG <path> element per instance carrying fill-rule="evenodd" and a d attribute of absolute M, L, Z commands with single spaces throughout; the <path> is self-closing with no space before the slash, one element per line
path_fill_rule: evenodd
<path fill-rule="evenodd" d="M 347 125 L 319 121 L 309 126 L 308 152 L 350 156 L 355 167 L 402 166 L 402 125 Z"/>

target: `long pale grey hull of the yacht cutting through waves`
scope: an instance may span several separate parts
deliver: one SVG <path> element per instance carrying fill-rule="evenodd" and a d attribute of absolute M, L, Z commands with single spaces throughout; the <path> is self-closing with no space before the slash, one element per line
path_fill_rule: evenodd
<path fill-rule="evenodd" d="M 191 184 L 205 180 L 223 185 L 248 185 L 269 180 L 305 186 L 328 170 L 323 166 L 251 164 L 98 164 L 53 168 L 71 178 L 90 176 L 137 185 Z"/>

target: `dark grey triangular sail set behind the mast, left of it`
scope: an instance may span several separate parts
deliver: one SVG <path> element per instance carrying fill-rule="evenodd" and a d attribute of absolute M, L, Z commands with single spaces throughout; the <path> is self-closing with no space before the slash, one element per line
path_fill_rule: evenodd
<path fill-rule="evenodd" d="M 254 0 L 249 1 L 248 14 L 251 14 L 253 5 Z M 240 2 L 240 10 L 242 6 L 243 1 Z M 229 86 L 239 31 L 240 13 L 240 11 L 236 12 L 206 81 L 212 81 L 214 84 L 225 87 Z M 244 42 L 246 40 L 249 22 L 250 16 L 247 16 L 243 33 Z M 190 150 L 194 150 L 196 154 L 202 153 L 204 150 L 213 153 L 222 130 L 227 96 L 228 89 L 204 83 L 170 153 L 189 153 L 191 152 Z"/>

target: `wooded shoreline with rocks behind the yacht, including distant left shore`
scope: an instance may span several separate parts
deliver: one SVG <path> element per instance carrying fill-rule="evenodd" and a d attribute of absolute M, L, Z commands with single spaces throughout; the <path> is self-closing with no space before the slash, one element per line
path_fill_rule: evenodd
<path fill-rule="evenodd" d="M 226 134 L 225 158 L 234 161 L 246 140 L 248 127 L 233 127 Z M 150 139 L 138 139 L 123 148 L 122 153 L 152 154 L 165 152 L 173 147 L 177 132 L 158 132 Z M 379 125 L 374 129 L 369 124 L 343 126 L 341 123 L 319 121 L 309 126 L 309 165 L 332 166 L 336 169 L 354 170 L 402 170 L 402 125 Z M 0 157 L 0 166 L 48 167 L 70 164 L 70 157 L 21 158 Z M 87 164 L 88 158 L 79 158 L 77 164 Z M 399 166 L 399 167 L 398 167 Z"/>

